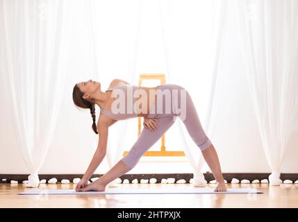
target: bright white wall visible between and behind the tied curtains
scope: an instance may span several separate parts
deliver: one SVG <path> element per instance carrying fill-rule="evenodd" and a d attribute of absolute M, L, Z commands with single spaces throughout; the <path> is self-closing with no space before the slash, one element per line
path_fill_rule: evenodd
<path fill-rule="evenodd" d="M 146 6 L 144 6 L 146 7 Z M 154 17 L 154 14 L 151 14 Z M 156 16 L 158 16 L 156 14 Z M 80 22 L 79 19 L 74 20 L 74 23 Z M 222 56 L 222 65 L 220 73 L 220 89 L 217 96 L 219 96 L 219 107 L 215 119 L 215 135 L 213 144 L 217 149 L 222 164 L 222 171 L 228 172 L 270 172 L 270 167 L 267 164 L 263 148 L 260 142 L 260 135 L 258 133 L 256 117 L 251 104 L 251 98 L 247 83 L 245 81 L 244 65 L 241 58 L 238 32 L 235 24 L 235 14 L 233 8 L 229 8 L 228 27 L 226 30 L 226 38 L 224 44 L 224 54 Z M 154 28 L 154 26 L 151 26 Z M 150 33 L 150 29 L 144 28 Z M 163 47 L 161 45 L 161 35 L 158 28 L 153 31 L 148 38 L 156 38 L 156 44 L 151 44 L 151 57 L 148 59 L 142 57 L 142 53 L 148 53 L 146 47 L 142 47 L 140 43 L 139 57 L 138 57 L 138 73 L 165 73 L 167 69 L 165 66 L 165 58 L 163 56 Z M 153 29 L 154 30 L 154 29 Z M 84 31 L 81 31 L 83 35 Z M 78 33 L 75 33 L 78 34 Z M 73 41 L 77 42 L 76 47 L 70 51 L 68 80 L 65 85 L 65 94 L 63 95 L 63 104 L 58 117 L 58 125 L 53 136 L 53 142 L 49 148 L 49 153 L 44 161 L 42 169 L 39 173 L 84 173 L 92 158 L 92 155 L 97 146 L 97 135 L 91 129 L 92 119 L 90 112 L 78 111 L 72 102 L 72 88 L 74 83 L 81 80 L 92 78 L 90 76 L 90 68 L 84 66 L 87 58 L 88 49 L 79 44 L 79 36 L 73 35 Z M 153 41 L 153 40 L 152 40 Z M 159 42 L 158 42 L 159 41 Z M 124 44 L 119 42 L 119 44 Z M 146 41 L 143 42 L 146 44 Z M 181 43 L 183 44 L 183 43 Z M 143 46 L 144 46 L 143 45 Z M 117 70 L 117 66 L 113 65 L 113 56 L 117 54 L 117 45 L 113 49 L 114 53 L 105 57 L 103 53 L 100 58 L 99 65 L 101 74 L 107 71 L 105 76 L 97 79 L 102 82 L 102 89 L 108 87 L 108 82 L 113 78 L 122 78 L 121 73 Z M 123 58 L 123 64 L 128 62 L 128 58 L 120 55 Z M 182 61 L 181 64 L 187 67 L 187 62 L 195 62 L 192 58 L 187 58 L 188 61 Z M 0 61 L 1 62 L 1 61 Z M 88 61 L 87 61 L 88 62 Z M 197 61 L 198 64 L 201 61 Z M 123 66 L 122 66 L 123 67 Z M 182 70 L 182 69 L 181 69 Z M 186 68 L 184 69 L 186 70 Z M 189 72 L 189 70 L 188 70 Z M 201 74 L 204 75 L 204 74 Z M 10 124 L 12 117 L 12 110 L 8 107 L 7 95 L 9 94 L 6 81 L 3 76 L 0 79 L 1 87 L 1 112 L 0 112 L 0 173 L 29 173 L 19 153 L 13 128 Z M 192 79 L 183 78 L 181 73 L 181 84 L 185 87 L 197 80 L 197 89 L 190 87 L 190 94 L 199 94 L 196 97 L 195 103 L 199 113 L 201 122 L 204 123 L 206 117 L 206 96 L 208 92 L 202 90 L 206 85 L 202 78 L 193 71 Z M 98 118 L 99 110 L 97 110 Z M 175 123 L 176 124 L 176 123 Z M 298 164 L 298 115 L 293 122 L 296 126 L 294 132 L 290 136 L 287 144 L 288 149 L 285 153 L 281 173 L 297 173 Z M 113 136 L 113 135 L 110 135 Z M 133 135 L 132 135 L 133 137 Z M 168 134 L 167 140 L 176 138 L 175 135 Z M 148 158 L 145 158 L 146 160 Z M 185 160 L 185 159 L 183 159 Z M 208 168 L 205 167 L 204 171 Z M 96 173 L 105 173 L 108 171 L 106 160 L 99 166 Z M 129 173 L 188 173 L 191 172 L 190 164 L 185 162 L 156 162 L 147 163 L 141 162 Z"/>

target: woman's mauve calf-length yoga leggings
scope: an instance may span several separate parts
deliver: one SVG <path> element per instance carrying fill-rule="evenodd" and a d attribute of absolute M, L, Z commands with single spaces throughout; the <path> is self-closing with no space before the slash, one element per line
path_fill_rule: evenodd
<path fill-rule="evenodd" d="M 177 116 L 181 119 L 181 121 L 183 121 L 190 137 L 192 137 L 192 140 L 195 144 L 197 144 L 197 146 L 199 146 L 201 151 L 204 151 L 212 144 L 201 126 L 201 122 L 199 121 L 199 117 L 197 115 L 197 111 L 194 107 L 194 103 L 192 102 L 190 94 L 188 94 L 188 92 L 186 91 L 185 97 L 181 97 L 181 94 L 179 93 L 178 96 L 173 96 L 172 89 L 178 89 L 178 92 L 180 92 L 180 89 L 185 90 L 180 85 L 174 84 L 159 85 L 158 89 L 161 89 L 161 91 L 163 91 L 163 89 L 169 89 L 169 92 L 171 92 L 172 101 L 174 100 L 173 98 L 175 98 L 176 102 L 178 102 L 178 107 L 179 105 L 181 105 L 181 98 L 185 98 L 185 115 L 183 119 L 181 119 L 181 114 L 177 114 L 177 112 L 174 112 L 174 109 L 172 108 L 170 113 L 165 113 L 166 111 L 157 112 L 157 102 L 154 103 L 154 106 L 152 108 L 152 110 L 154 110 L 154 113 L 151 113 L 151 110 L 151 114 L 149 114 L 148 118 L 158 119 L 158 121 L 156 122 L 158 128 L 156 128 L 154 132 L 151 132 L 147 128 L 143 128 L 142 133 L 138 137 L 135 144 L 133 144 L 133 147 L 131 148 L 129 153 L 122 157 L 122 161 L 131 169 L 133 169 L 133 167 L 138 164 L 140 157 L 142 157 L 142 155 L 144 155 L 144 153 L 149 150 L 149 148 L 151 148 L 151 146 L 153 146 L 158 141 L 158 139 L 160 139 L 160 137 L 162 137 L 163 134 L 173 125 Z M 163 99 L 163 107 L 165 107 L 165 99 Z M 162 109 L 165 110 L 165 108 Z"/>

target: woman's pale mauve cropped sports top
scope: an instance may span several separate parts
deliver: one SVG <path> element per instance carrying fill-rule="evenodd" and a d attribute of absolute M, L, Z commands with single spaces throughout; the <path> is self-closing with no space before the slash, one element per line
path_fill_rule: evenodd
<path fill-rule="evenodd" d="M 114 89 L 121 89 L 121 90 L 116 91 Z M 138 92 L 135 92 L 138 89 L 139 89 L 139 87 L 137 85 L 124 85 L 124 84 L 118 84 L 118 85 L 115 85 L 114 87 L 108 87 L 106 92 L 112 91 L 112 95 L 114 94 L 113 97 L 115 100 L 118 99 L 118 101 L 120 101 L 121 97 L 124 98 L 124 100 L 123 100 L 124 106 L 122 106 L 122 109 L 124 109 L 122 111 L 124 111 L 124 112 L 118 112 L 119 110 L 121 110 L 119 107 L 119 105 L 121 103 L 119 104 L 114 100 L 113 103 L 114 102 L 117 103 L 117 105 L 116 105 L 117 110 L 113 110 L 113 105 L 112 105 L 111 110 L 101 109 L 100 113 L 104 113 L 106 116 L 108 116 L 112 119 L 115 119 L 115 120 L 123 120 L 123 119 L 130 119 L 130 118 L 138 117 L 138 114 L 135 113 L 132 108 L 133 107 L 132 105 L 135 104 L 135 102 L 138 100 L 138 98 L 133 97 L 134 93 L 135 93 L 135 96 L 138 95 Z M 115 113 L 115 112 L 118 112 L 118 113 Z"/>

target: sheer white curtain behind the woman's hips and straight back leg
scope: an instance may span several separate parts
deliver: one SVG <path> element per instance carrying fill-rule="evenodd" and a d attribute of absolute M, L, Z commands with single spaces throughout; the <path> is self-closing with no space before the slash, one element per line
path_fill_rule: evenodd
<path fill-rule="evenodd" d="M 169 22 L 171 22 L 171 2 L 169 0 L 160 1 L 160 22 L 162 25 L 162 33 L 163 33 L 163 46 L 165 51 L 165 61 L 167 65 L 167 81 L 168 83 L 173 84 L 179 84 L 181 81 L 181 78 L 185 78 L 185 76 L 177 73 L 177 71 L 172 69 L 172 45 L 169 44 L 169 39 L 173 38 L 169 33 Z M 182 3 L 182 2 L 181 2 Z M 191 3 L 191 2 L 190 2 Z M 206 132 L 206 135 L 210 138 L 211 141 L 213 141 L 213 131 L 210 127 L 210 120 L 211 117 L 215 114 L 217 103 L 216 103 L 216 89 L 217 89 L 217 76 L 219 75 L 219 67 L 220 67 L 220 58 L 221 58 L 221 52 L 222 52 L 222 42 L 224 38 L 224 29 L 226 27 L 226 1 L 208 1 L 207 4 L 212 5 L 214 8 L 214 23 L 213 23 L 213 31 L 214 35 L 213 38 L 213 56 L 211 56 L 211 62 L 210 62 L 210 73 L 212 74 L 211 79 L 211 87 L 210 87 L 210 94 L 206 94 L 206 97 L 209 96 L 208 99 L 208 112 L 205 124 L 203 121 L 201 123 L 204 125 L 203 128 Z M 206 1 L 199 1 L 196 2 L 196 7 L 204 8 L 206 6 Z M 183 9 L 181 9 L 183 10 Z M 200 28 L 199 26 L 194 26 L 192 28 Z M 185 40 L 186 41 L 186 40 Z M 200 40 L 197 40 L 200 41 Z M 183 42 L 181 42 L 183 44 Z M 208 73 L 206 73 L 208 74 Z M 192 76 L 191 76 L 192 77 Z M 196 81 L 195 78 L 192 78 L 194 82 Z M 201 80 L 204 80 L 203 78 Z M 191 85 L 192 83 L 190 83 Z M 186 87 L 186 89 L 188 89 Z M 194 98 L 194 94 L 192 94 L 192 98 Z M 193 99 L 195 101 L 195 99 Z M 200 118 L 201 119 L 201 118 Z M 206 185 L 206 180 L 204 178 L 204 174 L 201 172 L 202 167 L 204 166 L 204 158 L 201 155 L 201 151 L 197 147 L 196 144 L 192 141 L 190 135 L 188 135 L 188 132 L 186 128 L 183 126 L 183 123 L 181 123 L 180 119 L 178 119 L 178 126 L 180 130 L 180 135 L 183 137 L 183 150 L 185 152 L 186 157 L 188 158 L 188 161 L 190 162 L 190 165 L 193 168 L 193 185 L 195 187 L 204 187 Z"/>

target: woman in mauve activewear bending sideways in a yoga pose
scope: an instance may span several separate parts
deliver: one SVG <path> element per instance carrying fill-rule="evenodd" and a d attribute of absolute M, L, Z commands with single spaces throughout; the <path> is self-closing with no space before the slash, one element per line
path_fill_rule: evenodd
<path fill-rule="evenodd" d="M 126 106 L 126 110 L 133 110 L 133 112 L 115 112 L 117 107 L 115 106 L 116 100 L 120 99 L 120 96 L 116 99 L 115 92 L 119 90 L 123 92 L 122 95 L 126 97 L 126 101 L 130 100 L 133 102 Z M 183 92 L 184 90 L 184 98 L 182 97 L 183 93 L 180 93 L 175 97 L 173 93 L 174 90 L 180 90 L 180 92 Z M 167 110 L 169 105 L 168 103 L 165 104 L 165 100 L 163 100 L 162 103 L 158 103 L 156 101 L 158 96 L 163 96 L 163 93 L 166 91 L 170 92 L 171 96 L 175 98 L 173 99 L 175 104 L 185 104 L 185 113 L 183 118 L 182 114 L 177 114 L 174 109 L 170 108 Z M 113 92 L 114 94 L 112 95 Z M 142 92 L 142 94 L 136 97 L 135 92 Z M 154 96 L 150 96 L 152 95 L 152 92 Z M 224 178 L 222 176 L 220 162 L 218 160 L 215 148 L 204 133 L 197 115 L 197 111 L 195 110 L 194 104 L 192 103 L 192 99 L 190 98 L 187 90 L 185 90 L 183 87 L 174 84 L 158 85 L 157 87 L 138 87 L 135 85 L 130 85 L 124 80 L 115 79 L 110 83 L 108 90 L 102 92 L 100 83 L 88 80 L 88 82 L 77 83 L 74 86 L 72 96 L 76 106 L 79 108 L 90 109 L 93 120 L 92 129 L 94 130 L 94 133 L 99 134 L 97 150 L 95 151 L 92 161 L 90 162 L 87 171 L 81 179 L 81 182 L 76 185 L 76 191 L 104 191 L 106 185 L 108 185 L 109 182 L 119 178 L 119 176 L 122 176 L 124 173 L 135 167 L 135 164 L 138 163 L 140 157 L 142 157 L 142 155 L 144 155 L 144 153 L 151 146 L 153 146 L 158 139 L 160 139 L 167 129 L 172 126 L 177 116 L 181 118 L 185 124 L 188 133 L 197 146 L 201 149 L 204 159 L 213 172 L 213 175 L 217 181 L 217 187 L 215 188 L 215 191 L 226 191 L 226 185 L 224 184 Z M 142 102 L 140 103 L 140 101 Z M 138 105 L 138 103 L 140 103 L 140 105 Z M 167 113 L 159 112 L 156 114 L 155 111 L 152 111 L 156 110 L 156 108 L 160 109 L 160 107 L 158 107 L 160 104 L 161 106 L 165 107 L 161 109 L 167 110 Z M 97 124 L 95 123 L 95 105 L 99 105 L 101 110 Z M 88 180 L 106 155 L 108 128 L 119 120 L 133 117 L 144 117 L 144 129 L 138 137 L 138 140 L 135 142 L 129 153 L 122 157 L 122 160 L 119 160 L 119 162 L 117 162 L 117 164 L 115 164 L 115 166 L 106 174 L 88 185 Z"/>

